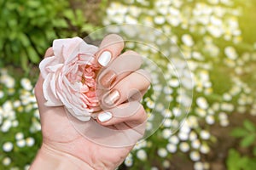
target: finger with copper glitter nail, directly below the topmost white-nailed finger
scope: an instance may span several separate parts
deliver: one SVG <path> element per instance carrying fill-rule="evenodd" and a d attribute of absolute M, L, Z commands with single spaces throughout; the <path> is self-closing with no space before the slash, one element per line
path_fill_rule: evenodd
<path fill-rule="evenodd" d="M 112 88 L 116 82 L 129 75 L 133 71 L 137 71 L 142 65 L 141 56 L 133 51 L 127 51 L 119 55 L 117 59 L 100 73 L 97 82 L 98 88 Z"/>

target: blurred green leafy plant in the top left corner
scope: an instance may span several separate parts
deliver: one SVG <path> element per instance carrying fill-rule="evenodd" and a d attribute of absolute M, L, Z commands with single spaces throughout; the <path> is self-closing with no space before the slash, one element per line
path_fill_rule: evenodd
<path fill-rule="evenodd" d="M 27 70 L 38 64 L 44 51 L 58 37 L 73 37 L 84 26 L 81 10 L 67 0 L 0 0 L 0 66 L 13 64 Z"/>

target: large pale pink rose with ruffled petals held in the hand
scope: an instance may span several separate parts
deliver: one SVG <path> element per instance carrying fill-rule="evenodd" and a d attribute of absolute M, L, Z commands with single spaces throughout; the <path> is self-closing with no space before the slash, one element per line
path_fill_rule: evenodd
<path fill-rule="evenodd" d="M 96 98 L 96 75 L 100 70 L 94 57 L 97 49 L 79 37 L 53 42 L 54 56 L 39 65 L 45 105 L 64 105 L 81 121 L 90 120 L 91 113 L 101 109 Z"/>

